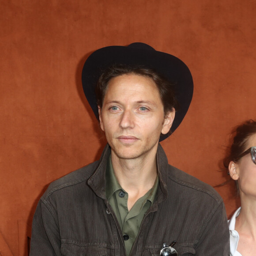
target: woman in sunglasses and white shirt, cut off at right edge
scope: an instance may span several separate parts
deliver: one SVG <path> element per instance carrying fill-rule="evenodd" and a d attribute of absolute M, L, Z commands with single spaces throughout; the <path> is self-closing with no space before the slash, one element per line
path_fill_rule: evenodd
<path fill-rule="evenodd" d="M 241 207 L 229 220 L 231 256 L 256 255 L 256 121 L 248 120 L 234 131 L 230 155 L 224 160 L 236 181 Z"/>

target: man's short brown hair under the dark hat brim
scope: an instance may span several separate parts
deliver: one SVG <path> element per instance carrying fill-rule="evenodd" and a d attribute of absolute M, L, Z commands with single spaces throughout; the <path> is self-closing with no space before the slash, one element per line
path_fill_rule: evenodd
<path fill-rule="evenodd" d="M 154 81 L 160 94 L 165 116 L 173 108 L 177 109 L 178 103 L 175 98 L 172 82 L 150 68 L 143 66 L 131 67 L 128 65 L 113 65 L 102 72 L 95 89 L 97 105 L 100 108 L 102 108 L 109 81 L 114 77 L 127 74 L 142 75 Z"/>

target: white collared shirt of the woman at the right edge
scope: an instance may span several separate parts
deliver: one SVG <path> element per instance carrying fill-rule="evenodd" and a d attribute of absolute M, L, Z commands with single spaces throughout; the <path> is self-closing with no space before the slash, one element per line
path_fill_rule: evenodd
<path fill-rule="evenodd" d="M 237 252 L 237 245 L 239 241 L 239 234 L 237 230 L 235 230 L 236 218 L 239 215 L 241 207 L 235 211 L 232 218 L 230 218 L 229 228 L 230 228 L 230 256 L 242 256 L 239 252 Z"/>

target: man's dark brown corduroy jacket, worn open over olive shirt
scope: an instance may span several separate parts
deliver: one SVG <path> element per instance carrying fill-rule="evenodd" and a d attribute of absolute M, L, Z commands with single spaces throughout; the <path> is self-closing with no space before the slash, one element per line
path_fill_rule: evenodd
<path fill-rule="evenodd" d="M 30 256 L 125 256 L 124 237 L 105 196 L 107 145 L 99 161 L 49 185 L 36 209 Z M 211 186 L 168 165 L 158 146 L 159 185 L 131 256 L 158 255 L 163 243 L 179 256 L 229 256 L 230 234 L 222 198 Z"/>

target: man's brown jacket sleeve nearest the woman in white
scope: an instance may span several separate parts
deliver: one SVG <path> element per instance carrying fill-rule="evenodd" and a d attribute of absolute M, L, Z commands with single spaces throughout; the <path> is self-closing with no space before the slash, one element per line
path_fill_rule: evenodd
<path fill-rule="evenodd" d="M 230 232 L 223 202 L 204 224 L 203 229 L 196 245 L 196 256 L 230 256 Z"/>

